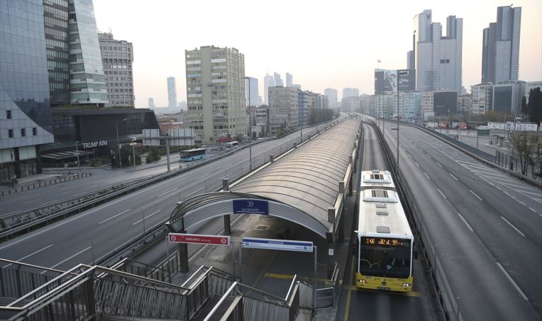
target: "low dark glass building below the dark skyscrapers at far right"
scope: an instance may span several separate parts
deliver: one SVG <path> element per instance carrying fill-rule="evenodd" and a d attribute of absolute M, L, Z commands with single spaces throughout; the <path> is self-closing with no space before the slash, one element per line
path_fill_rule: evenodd
<path fill-rule="evenodd" d="M 521 112 L 521 100 L 525 96 L 525 81 L 501 81 L 493 86 L 493 111 L 514 115 Z"/>

